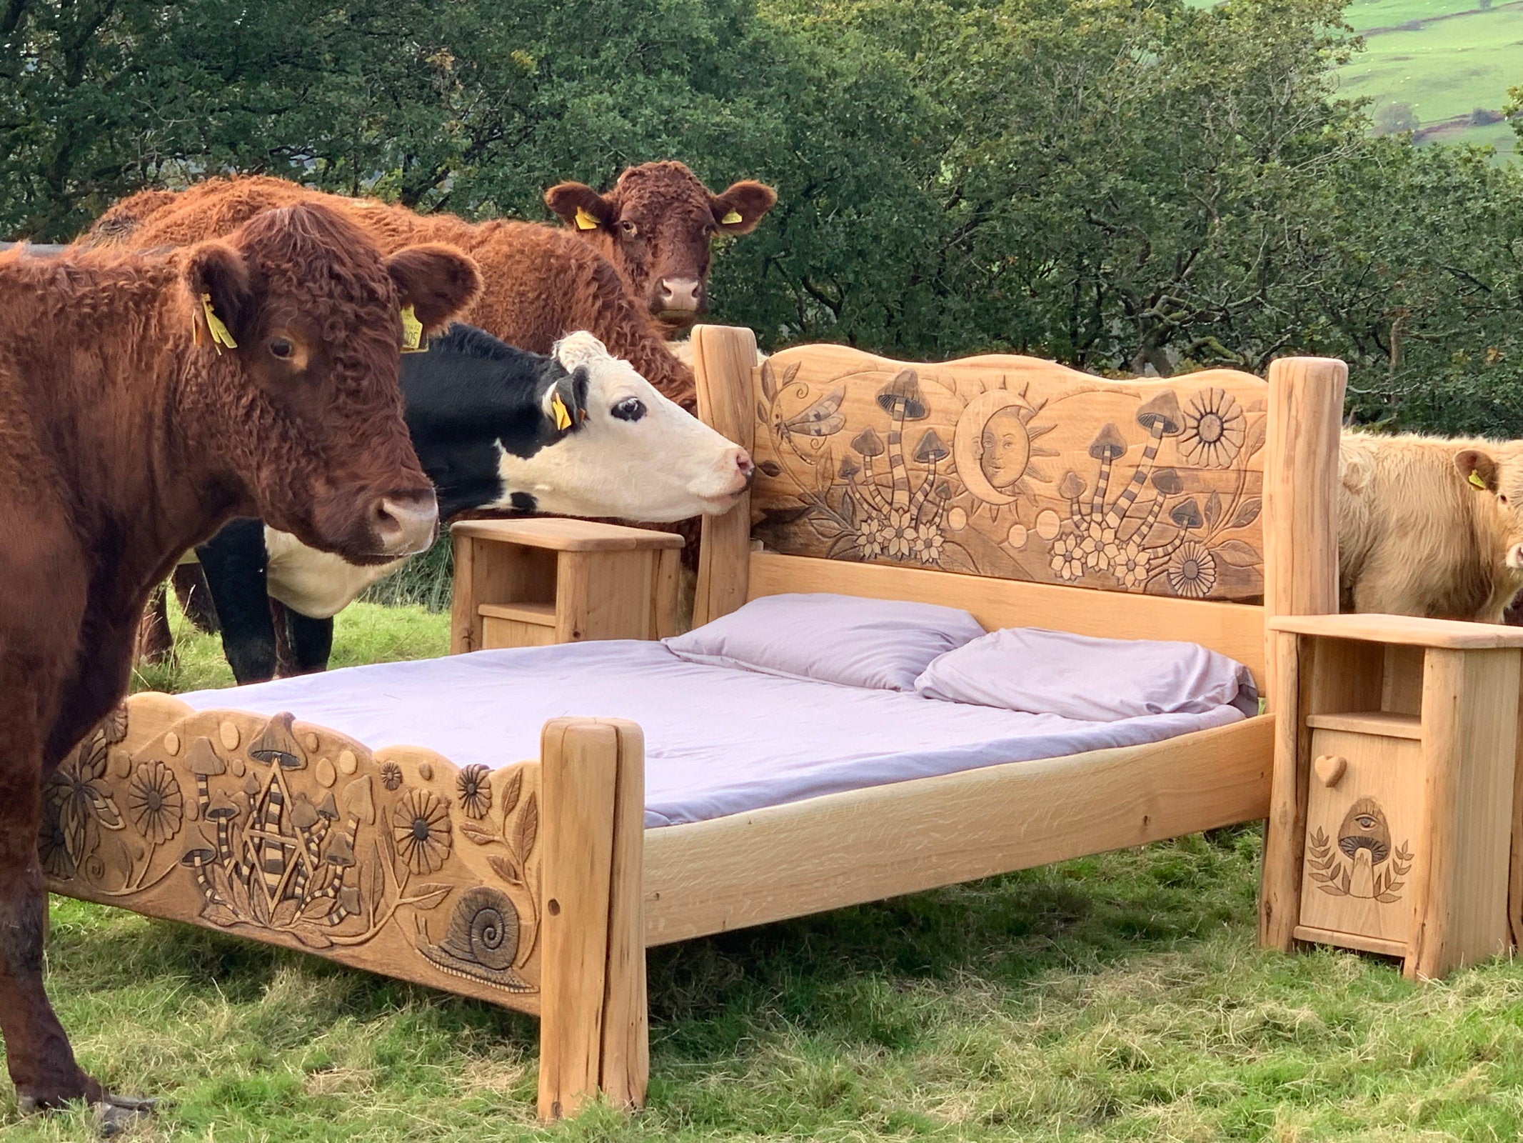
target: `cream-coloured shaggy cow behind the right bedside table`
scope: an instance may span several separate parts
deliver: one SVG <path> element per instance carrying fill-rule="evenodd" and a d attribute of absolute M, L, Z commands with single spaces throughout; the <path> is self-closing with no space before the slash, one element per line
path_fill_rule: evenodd
<path fill-rule="evenodd" d="M 1343 433 L 1339 607 L 1500 623 L 1523 590 L 1523 440 Z"/>

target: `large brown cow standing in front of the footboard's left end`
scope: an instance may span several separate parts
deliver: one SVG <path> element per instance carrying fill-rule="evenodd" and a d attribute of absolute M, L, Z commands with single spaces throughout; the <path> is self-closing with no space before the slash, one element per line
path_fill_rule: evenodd
<path fill-rule="evenodd" d="M 382 259 L 320 206 L 160 255 L 0 255 L 0 1032 L 23 1109 L 142 1109 L 47 1003 L 38 835 L 102 812 L 50 789 L 44 817 L 44 783 L 126 693 L 149 590 L 235 515 L 355 562 L 426 547 L 401 306 L 437 329 L 478 290 L 457 250 Z"/>

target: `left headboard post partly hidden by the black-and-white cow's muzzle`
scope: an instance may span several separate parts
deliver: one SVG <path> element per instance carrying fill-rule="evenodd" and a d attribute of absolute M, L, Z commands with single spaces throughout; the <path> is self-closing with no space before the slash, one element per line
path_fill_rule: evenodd
<path fill-rule="evenodd" d="M 693 328 L 693 375 L 698 381 L 698 415 L 704 424 L 751 451 L 755 415 L 751 405 L 751 372 L 757 363 L 757 338 L 736 326 Z M 751 562 L 751 495 L 722 517 L 704 517 L 698 553 L 698 593 L 693 626 L 728 616 L 746 602 L 746 570 Z"/>

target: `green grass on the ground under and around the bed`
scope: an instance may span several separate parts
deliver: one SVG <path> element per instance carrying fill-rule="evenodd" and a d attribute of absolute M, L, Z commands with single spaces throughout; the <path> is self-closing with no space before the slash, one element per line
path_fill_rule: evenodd
<path fill-rule="evenodd" d="M 335 660 L 445 643 L 358 605 Z M 201 636 L 143 681 L 224 678 Z M 1523 965 L 1260 952 L 1258 853 L 1220 831 L 655 949 L 650 1106 L 550 1129 L 535 1023 L 486 1004 L 65 899 L 50 989 L 87 1067 L 163 1097 L 142 1140 L 1515 1140 Z M 0 1096 L 6 1143 L 87 1131 Z"/>

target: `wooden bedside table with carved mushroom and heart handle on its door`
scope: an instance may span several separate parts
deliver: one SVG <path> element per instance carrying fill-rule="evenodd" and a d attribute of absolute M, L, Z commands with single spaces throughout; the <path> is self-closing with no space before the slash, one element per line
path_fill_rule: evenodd
<path fill-rule="evenodd" d="M 1508 945 L 1523 629 L 1269 620 L 1281 680 L 1260 940 L 1442 977 Z"/>

